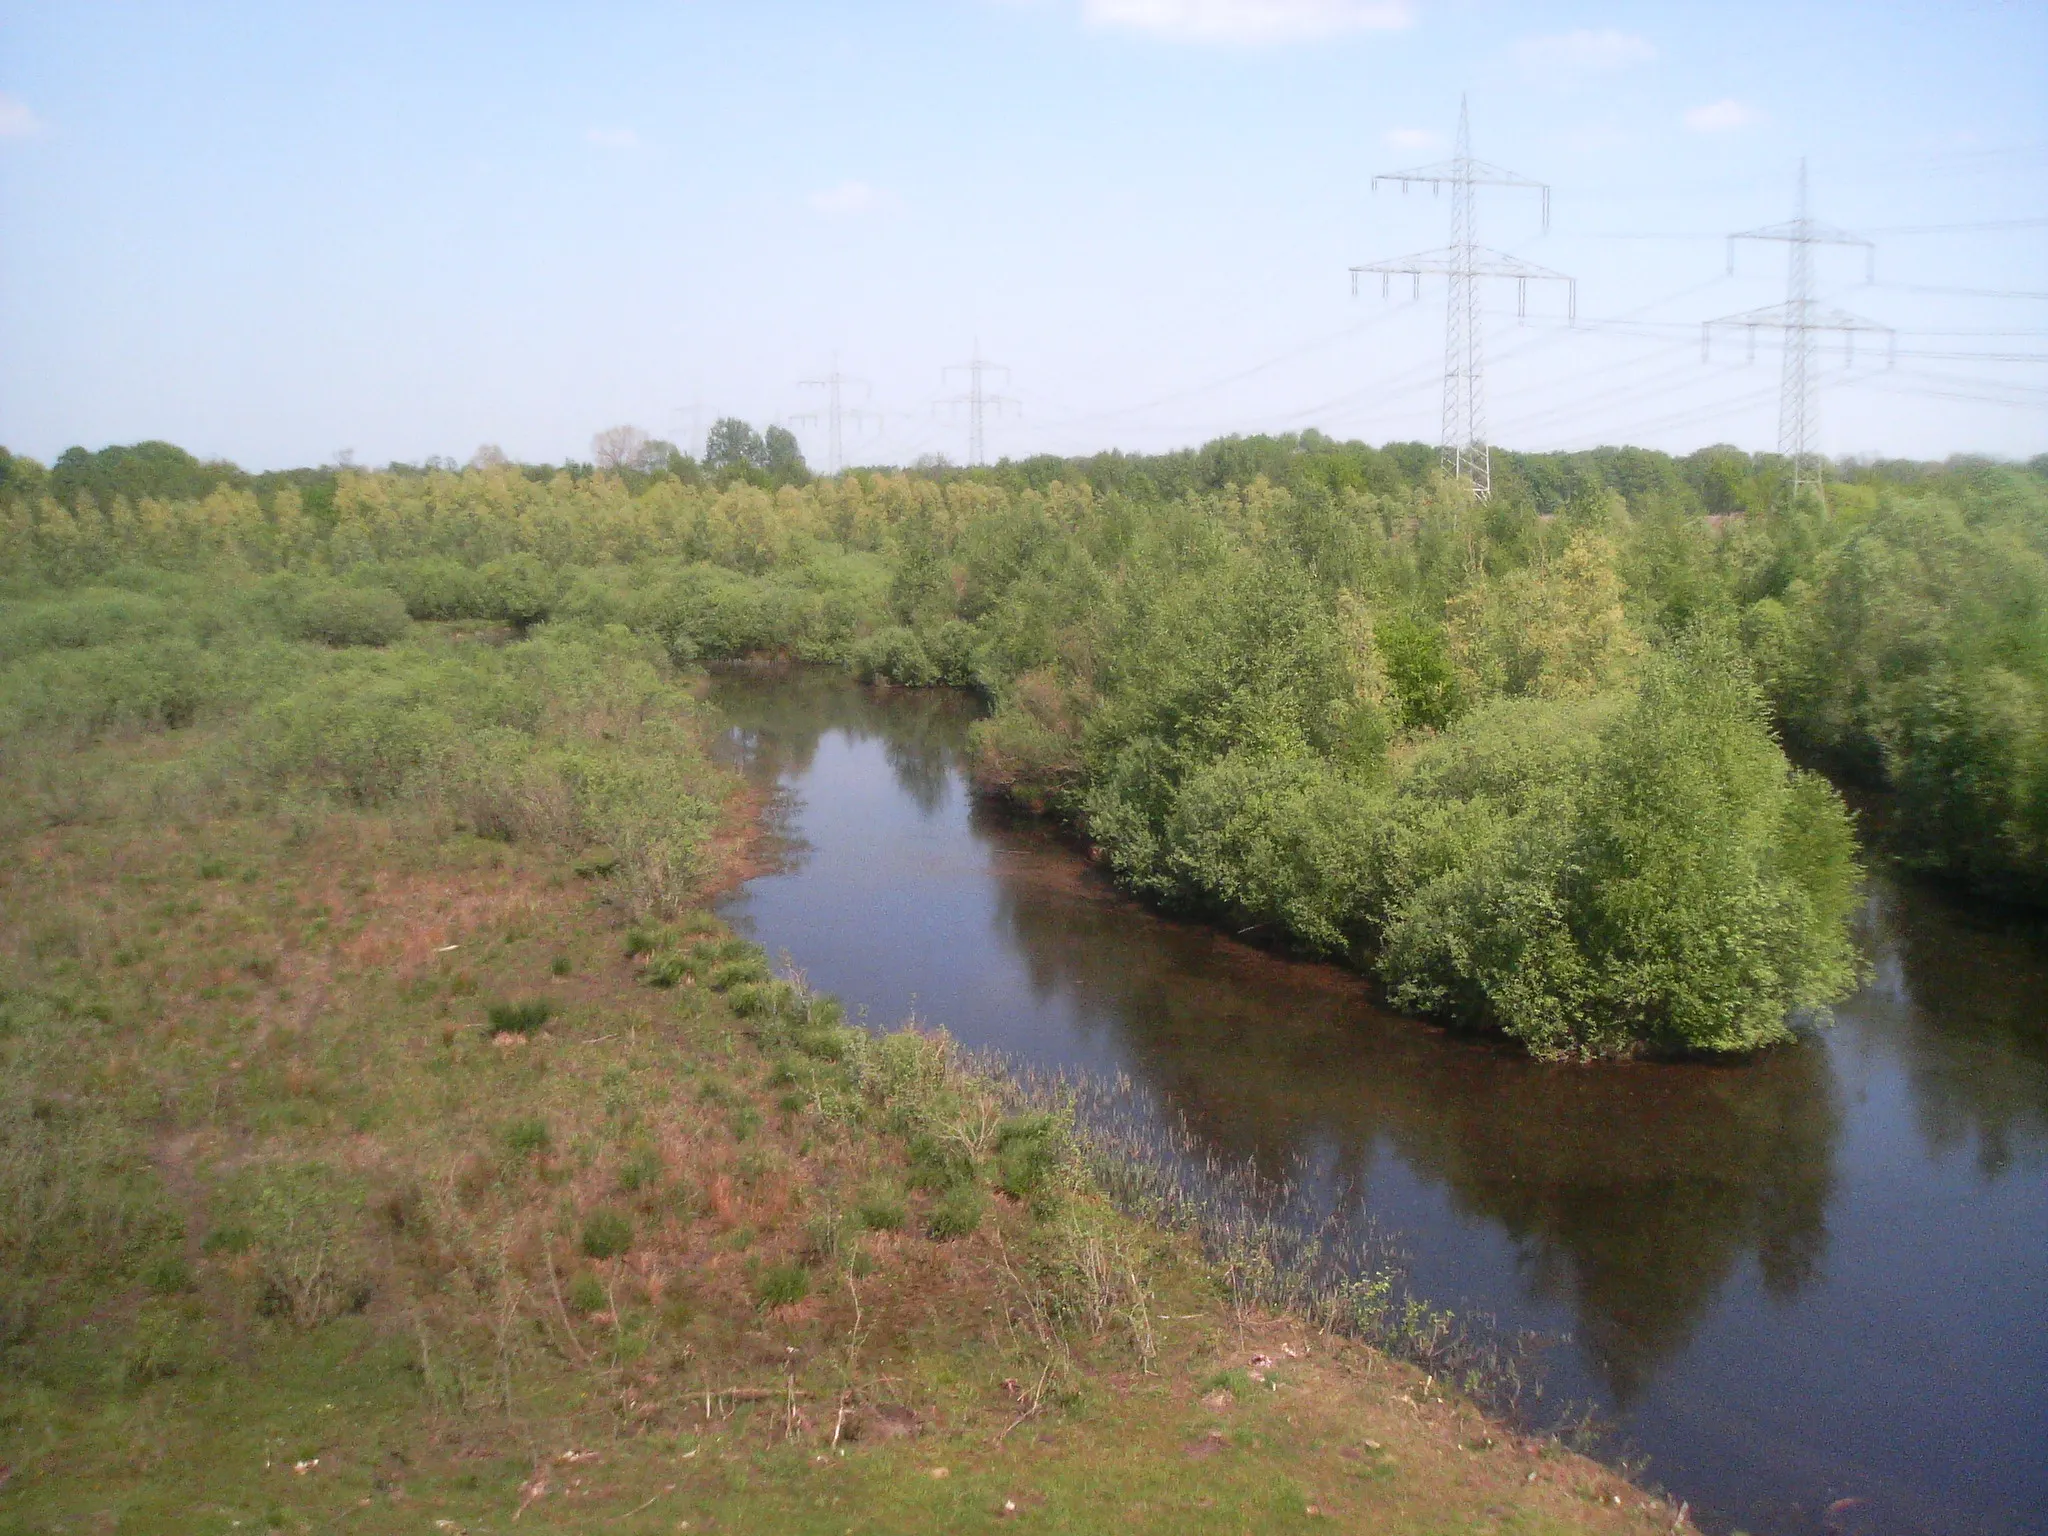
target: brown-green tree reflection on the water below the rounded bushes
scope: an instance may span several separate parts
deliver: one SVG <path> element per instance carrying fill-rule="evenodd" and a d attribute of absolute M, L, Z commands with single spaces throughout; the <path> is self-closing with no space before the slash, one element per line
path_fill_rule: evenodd
<path fill-rule="evenodd" d="M 1161 922 L 1042 834 L 983 811 L 1008 948 L 1040 997 L 1114 1020 L 1141 1077 L 1217 1145 L 1280 1165 L 1305 1141 L 1331 1198 L 1374 1149 L 1516 1241 L 1622 1405 L 1751 1255 L 1776 1296 L 1827 1241 L 1839 1104 L 1812 1044 L 1741 1069 L 1559 1067 L 1391 1016 L 1356 977 Z M 1036 856 L 1032 856 L 1036 854 Z"/>

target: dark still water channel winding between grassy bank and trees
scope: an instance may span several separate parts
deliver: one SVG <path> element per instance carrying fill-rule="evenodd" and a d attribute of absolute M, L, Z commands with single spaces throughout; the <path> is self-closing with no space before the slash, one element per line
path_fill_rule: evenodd
<path fill-rule="evenodd" d="M 813 985 L 1303 1159 L 1421 1294 L 1559 1335 L 1550 1401 L 1599 1405 L 1710 1526 L 2048 1532 L 2038 930 L 1874 881 L 1874 979 L 1831 1030 L 1546 1067 L 1124 899 L 969 793 L 958 696 L 727 672 L 713 698 L 793 838 L 729 915 Z"/>

